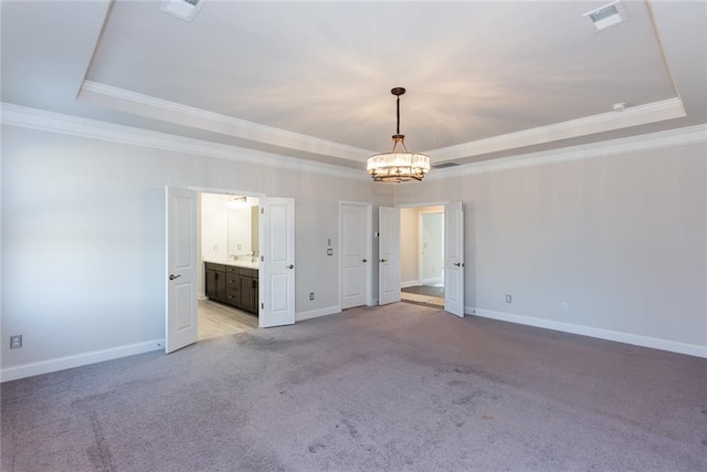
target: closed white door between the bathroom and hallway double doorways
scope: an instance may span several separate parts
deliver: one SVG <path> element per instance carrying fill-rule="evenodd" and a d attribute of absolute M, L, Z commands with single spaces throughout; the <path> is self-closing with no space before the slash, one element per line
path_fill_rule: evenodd
<path fill-rule="evenodd" d="M 370 204 L 339 204 L 341 310 L 368 304 L 370 212 Z"/>

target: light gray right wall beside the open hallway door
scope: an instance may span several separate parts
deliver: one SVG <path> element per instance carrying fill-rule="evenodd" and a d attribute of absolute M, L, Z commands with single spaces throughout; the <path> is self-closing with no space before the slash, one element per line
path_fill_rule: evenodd
<path fill-rule="evenodd" d="M 467 313 L 707 357 L 706 161 L 692 144 L 426 179 L 395 204 L 463 201 Z"/>

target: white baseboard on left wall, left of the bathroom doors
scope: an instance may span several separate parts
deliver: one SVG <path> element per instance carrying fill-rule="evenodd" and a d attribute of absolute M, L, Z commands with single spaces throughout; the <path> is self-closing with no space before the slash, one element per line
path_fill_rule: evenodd
<path fill-rule="evenodd" d="M 104 360 L 117 359 L 119 357 L 133 356 L 135 354 L 149 353 L 150 350 L 163 348 L 165 339 L 152 339 L 145 343 L 113 347 L 110 349 L 94 350 L 92 353 L 82 353 L 74 356 L 41 360 L 39 363 L 22 364 L 20 366 L 1 369 L 0 381 L 10 381 L 42 374 L 55 373 L 57 370 L 87 366 L 88 364 L 102 363 Z"/>

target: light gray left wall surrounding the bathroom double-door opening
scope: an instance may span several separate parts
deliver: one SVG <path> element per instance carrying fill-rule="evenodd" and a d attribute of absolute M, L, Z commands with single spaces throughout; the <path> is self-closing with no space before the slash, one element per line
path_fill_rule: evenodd
<path fill-rule="evenodd" d="M 294 198 L 297 313 L 339 305 L 338 259 L 326 255 L 327 239 L 338 241 L 338 201 L 392 202 L 390 187 L 367 180 L 3 126 L 3 378 L 163 338 L 167 185 Z M 24 346 L 10 350 L 15 334 Z"/>

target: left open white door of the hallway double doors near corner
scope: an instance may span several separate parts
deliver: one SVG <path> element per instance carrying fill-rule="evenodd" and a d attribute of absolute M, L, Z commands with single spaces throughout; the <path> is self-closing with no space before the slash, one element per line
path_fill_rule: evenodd
<path fill-rule="evenodd" d="M 400 302 L 400 209 L 380 207 L 378 214 L 378 298 Z"/>

